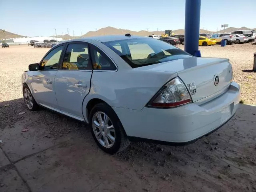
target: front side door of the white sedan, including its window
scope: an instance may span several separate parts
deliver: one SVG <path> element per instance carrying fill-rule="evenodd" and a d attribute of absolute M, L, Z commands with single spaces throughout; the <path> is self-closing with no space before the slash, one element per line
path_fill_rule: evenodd
<path fill-rule="evenodd" d="M 51 50 L 40 63 L 40 70 L 35 71 L 31 86 L 38 104 L 56 110 L 58 108 L 54 92 L 54 78 L 58 72 L 58 64 L 64 45 Z"/>

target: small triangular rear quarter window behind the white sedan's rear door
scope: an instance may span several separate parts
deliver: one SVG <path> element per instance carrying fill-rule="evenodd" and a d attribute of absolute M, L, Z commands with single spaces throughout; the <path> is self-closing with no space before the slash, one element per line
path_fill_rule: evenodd
<path fill-rule="evenodd" d="M 118 47 L 115 47 L 114 49 L 122 54 L 122 50 L 119 51 L 116 48 Z M 115 64 L 110 60 L 110 58 L 96 46 L 90 45 L 90 53 L 92 54 L 93 70 L 115 71 L 117 69 Z"/>

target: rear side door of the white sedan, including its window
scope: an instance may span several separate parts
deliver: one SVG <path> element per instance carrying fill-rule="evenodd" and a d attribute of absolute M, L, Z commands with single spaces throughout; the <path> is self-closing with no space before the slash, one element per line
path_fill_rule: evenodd
<path fill-rule="evenodd" d="M 54 82 L 58 106 L 63 114 L 84 120 L 82 103 L 90 91 L 91 76 L 88 44 L 68 43 Z"/>

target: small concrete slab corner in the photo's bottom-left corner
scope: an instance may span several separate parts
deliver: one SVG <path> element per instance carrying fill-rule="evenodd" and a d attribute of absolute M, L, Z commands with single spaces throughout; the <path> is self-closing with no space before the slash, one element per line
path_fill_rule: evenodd
<path fill-rule="evenodd" d="M 0 171 L 0 191 L 1 192 L 29 192 L 27 186 L 18 176 L 16 170 L 8 169 Z"/>

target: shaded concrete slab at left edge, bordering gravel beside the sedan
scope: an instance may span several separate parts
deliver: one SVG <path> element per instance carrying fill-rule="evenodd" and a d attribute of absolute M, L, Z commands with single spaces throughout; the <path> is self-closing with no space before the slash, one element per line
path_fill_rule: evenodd
<path fill-rule="evenodd" d="M 2 150 L 12 162 L 23 158 L 24 156 L 34 154 L 54 146 L 60 142 L 69 139 L 69 136 L 54 140 L 53 137 L 46 138 L 48 134 L 47 124 L 36 124 L 31 121 L 20 120 L 12 126 L 6 126 L 0 131 Z M 27 132 L 22 132 L 23 128 L 28 128 Z"/>

